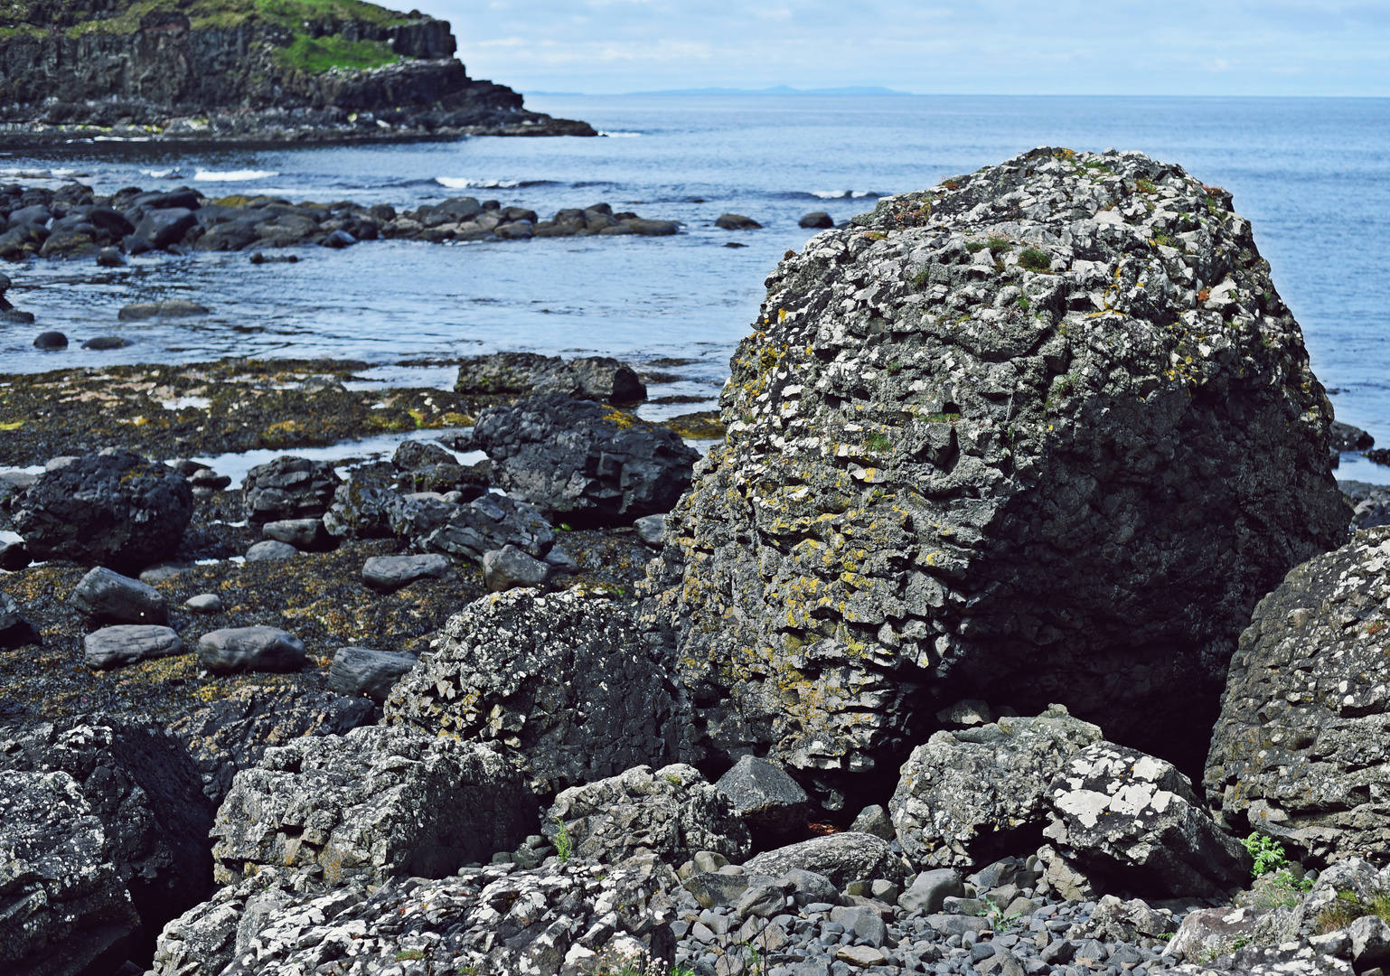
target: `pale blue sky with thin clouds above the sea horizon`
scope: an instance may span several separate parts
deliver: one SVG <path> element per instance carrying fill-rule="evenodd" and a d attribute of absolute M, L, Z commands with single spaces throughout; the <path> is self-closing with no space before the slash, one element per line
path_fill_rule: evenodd
<path fill-rule="evenodd" d="M 388 6 L 391 4 L 388 0 Z M 418 0 L 521 92 L 1390 96 L 1390 0 Z"/>

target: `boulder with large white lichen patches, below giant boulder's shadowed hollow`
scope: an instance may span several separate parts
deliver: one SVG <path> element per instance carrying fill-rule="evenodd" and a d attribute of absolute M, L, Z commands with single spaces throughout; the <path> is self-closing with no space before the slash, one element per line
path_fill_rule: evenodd
<path fill-rule="evenodd" d="M 1219 897 L 1250 877 L 1250 855 L 1223 833 L 1172 763 L 1111 742 L 1069 756 L 1048 787 L 1044 836 L 1130 890 Z"/>

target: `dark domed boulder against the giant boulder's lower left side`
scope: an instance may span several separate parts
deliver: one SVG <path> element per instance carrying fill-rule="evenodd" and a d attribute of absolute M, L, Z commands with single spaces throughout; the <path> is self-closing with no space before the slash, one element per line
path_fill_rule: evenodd
<path fill-rule="evenodd" d="M 384 722 L 488 742 L 539 791 L 691 761 L 673 662 L 631 606 L 582 591 L 484 596 L 396 683 Z"/>

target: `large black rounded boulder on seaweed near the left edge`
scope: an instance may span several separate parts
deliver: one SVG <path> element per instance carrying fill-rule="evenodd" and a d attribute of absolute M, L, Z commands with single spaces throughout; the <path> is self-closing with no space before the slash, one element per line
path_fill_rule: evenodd
<path fill-rule="evenodd" d="M 108 448 L 44 471 L 14 502 L 35 559 L 139 570 L 174 553 L 193 516 L 182 474 Z"/>

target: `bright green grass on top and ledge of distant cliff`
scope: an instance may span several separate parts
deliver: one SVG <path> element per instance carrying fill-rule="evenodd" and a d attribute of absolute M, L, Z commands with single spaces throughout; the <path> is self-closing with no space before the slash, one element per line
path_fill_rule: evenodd
<path fill-rule="evenodd" d="M 118 1 L 100 19 L 63 0 L 57 6 L 51 0 L 0 0 L 0 40 L 19 35 L 43 36 L 51 26 L 61 26 L 70 38 L 133 33 L 147 15 L 158 13 L 185 14 L 195 31 L 234 28 L 247 21 L 279 26 L 291 35 L 291 43 L 277 53 L 277 60 L 285 68 L 316 74 L 329 68 L 378 68 L 393 64 L 398 56 L 375 40 L 310 36 L 306 24 L 357 21 L 391 26 L 411 19 L 361 0 L 135 0 Z"/>

